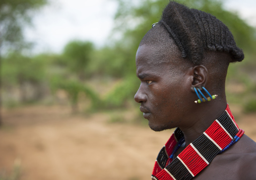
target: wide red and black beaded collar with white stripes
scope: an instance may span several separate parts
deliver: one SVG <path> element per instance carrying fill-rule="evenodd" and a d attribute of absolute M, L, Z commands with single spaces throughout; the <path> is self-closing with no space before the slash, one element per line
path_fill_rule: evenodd
<path fill-rule="evenodd" d="M 217 154 L 237 142 L 243 133 L 227 104 L 223 114 L 173 159 L 174 153 L 184 142 L 184 135 L 177 128 L 160 150 L 151 177 L 155 180 L 191 179 L 207 167 Z"/>

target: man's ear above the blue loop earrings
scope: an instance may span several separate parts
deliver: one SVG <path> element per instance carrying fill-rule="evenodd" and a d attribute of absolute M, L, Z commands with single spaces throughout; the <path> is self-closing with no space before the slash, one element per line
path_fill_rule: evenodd
<path fill-rule="evenodd" d="M 194 66 L 191 69 L 191 76 L 193 76 L 193 81 L 191 83 L 191 90 L 195 92 L 194 87 L 202 89 L 207 82 L 208 70 L 203 65 Z"/>

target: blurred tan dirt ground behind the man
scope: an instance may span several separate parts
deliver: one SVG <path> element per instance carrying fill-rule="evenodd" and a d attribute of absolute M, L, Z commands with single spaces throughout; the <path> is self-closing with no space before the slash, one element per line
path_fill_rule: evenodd
<path fill-rule="evenodd" d="M 230 107 L 240 128 L 256 140 L 256 114 Z M 66 106 L 4 109 L 2 115 L 0 171 L 11 173 L 19 162 L 21 180 L 150 179 L 156 155 L 172 133 L 109 123 L 107 113 L 71 115 Z"/>

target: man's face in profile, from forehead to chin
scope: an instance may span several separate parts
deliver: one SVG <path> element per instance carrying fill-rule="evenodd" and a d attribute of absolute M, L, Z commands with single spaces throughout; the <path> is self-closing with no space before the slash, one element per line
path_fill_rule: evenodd
<path fill-rule="evenodd" d="M 176 57 L 177 52 L 173 51 L 173 58 Z M 154 46 L 138 48 L 136 67 L 141 85 L 135 101 L 141 103 L 140 110 L 155 131 L 179 126 L 185 115 L 182 104 L 186 99 L 186 71 L 180 70 L 177 64 L 173 63 L 172 57 L 163 59 Z"/>

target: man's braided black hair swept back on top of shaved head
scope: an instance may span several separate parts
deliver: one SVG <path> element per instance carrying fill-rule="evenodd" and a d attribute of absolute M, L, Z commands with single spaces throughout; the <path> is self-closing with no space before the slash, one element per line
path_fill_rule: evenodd
<path fill-rule="evenodd" d="M 168 31 L 182 57 L 194 64 L 202 63 L 206 51 L 228 53 L 231 62 L 244 58 L 227 26 L 211 14 L 171 1 L 164 9 L 159 25 Z"/>

